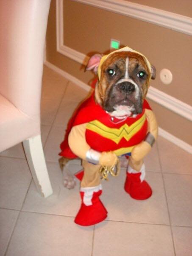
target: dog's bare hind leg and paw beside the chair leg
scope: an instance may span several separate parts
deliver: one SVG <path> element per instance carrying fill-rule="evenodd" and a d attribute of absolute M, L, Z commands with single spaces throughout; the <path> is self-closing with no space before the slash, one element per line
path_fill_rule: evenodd
<path fill-rule="evenodd" d="M 67 189 L 73 189 L 75 187 L 75 176 L 69 170 L 70 159 L 61 157 L 58 162 L 63 173 L 63 184 Z"/>

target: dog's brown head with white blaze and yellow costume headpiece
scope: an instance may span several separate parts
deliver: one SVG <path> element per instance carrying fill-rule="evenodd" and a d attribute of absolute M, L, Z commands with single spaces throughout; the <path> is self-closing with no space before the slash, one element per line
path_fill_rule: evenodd
<path fill-rule="evenodd" d="M 95 100 L 109 114 L 122 116 L 139 114 L 156 69 L 141 53 L 124 47 L 109 55 L 95 54 L 86 70 L 94 70 L 99 81 Z"/>

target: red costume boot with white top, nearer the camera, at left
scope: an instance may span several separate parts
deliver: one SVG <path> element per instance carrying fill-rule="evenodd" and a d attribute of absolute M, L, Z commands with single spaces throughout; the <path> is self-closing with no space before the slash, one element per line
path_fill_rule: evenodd
<path fill-rule="evenodd" d="M 81 226 L 90 226 L 106 219 L 107 210 L 100 201 L 101 185 L 81 188 L 81 208 L 75 217 L 75 223 Z"/>

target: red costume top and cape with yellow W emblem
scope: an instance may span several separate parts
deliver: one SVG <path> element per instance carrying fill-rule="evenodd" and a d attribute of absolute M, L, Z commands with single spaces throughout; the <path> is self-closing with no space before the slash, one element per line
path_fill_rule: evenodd
<path fill-rule="evenodd" d="M 142 142 L 147 134 L 147 119 L 145 109 L 151 109 L 146 100 L 143 111 L 134 117 L 119 120 L 111 116 L 97 103 L 94 93 L 75 111 L 70 119 L 64 141 L 61 143 L 60 156 L 76 158 L 68 145 L 68 135 L 75 125 L 86 125 L 86 142 L 97 151 L 114 151 L 117 156 L 130 154 L 132 148 Z"/>

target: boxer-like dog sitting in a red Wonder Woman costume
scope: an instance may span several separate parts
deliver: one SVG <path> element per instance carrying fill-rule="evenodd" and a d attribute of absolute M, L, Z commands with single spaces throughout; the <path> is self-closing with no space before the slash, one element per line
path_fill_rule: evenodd
<path fill-rule="evenodd" d="M 62 163 L 82 159 L 82 202 L 75 223 L 83 226 L 106 219 L 100 171 L 114 170 L 120 156 L 129 159 L 125 192 L 137 200 L 152 195 L 143 159 L 158 134 L 156 117 L 145 100 L 156 69 L 144 55 L 129 47 L 105 56 L 95 54 L 86 70 L 93 70 L 98 81 L 70 120 L 60 153 Z"/>

